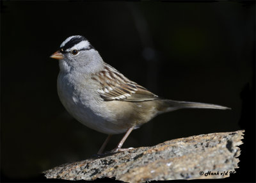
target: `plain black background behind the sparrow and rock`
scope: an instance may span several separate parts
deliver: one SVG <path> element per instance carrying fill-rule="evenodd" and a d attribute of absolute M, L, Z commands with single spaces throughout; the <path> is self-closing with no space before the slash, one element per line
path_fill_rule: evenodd
<path fill-rule="evenodd" d="M 90 157 L 106 138 L 58 99 L 58 61 L 49 56 L 71 35 L 86 36 L 104 61 L 161 97 L 232 107 L 157 116 L 124 147 L 245 129 L 240 168 L 225 180 L 255 181 L 253 1 L 1 1 L 2 181 L 43 180 L 41 171 Z"/>

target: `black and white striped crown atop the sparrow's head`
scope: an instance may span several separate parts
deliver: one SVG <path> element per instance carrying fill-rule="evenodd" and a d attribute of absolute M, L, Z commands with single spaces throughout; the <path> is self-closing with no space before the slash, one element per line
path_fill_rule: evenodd
<path fill-rule="evenodd" d="M 61 52 L 69 52 L 73 49 L 77 49 L 78 51 L 81 50 L 90 50 L 94 49 L 90 42 L 84 38 L 84 36 L 70 36 L 68 37 L 61 45 L 60 51 Z"/>

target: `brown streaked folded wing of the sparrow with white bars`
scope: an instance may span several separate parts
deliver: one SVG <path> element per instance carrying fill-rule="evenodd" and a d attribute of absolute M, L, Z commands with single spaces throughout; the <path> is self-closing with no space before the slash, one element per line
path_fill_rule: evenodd
<path fill-rule="evenodd" d="M 158 99 L 157 95 L 130 81 L 110 65 L 104 67 L 104 70 L 95 74 L 92 79 L 99 81 L 101 88 L 97 92 L 106 101 L 143 102 Z"/>

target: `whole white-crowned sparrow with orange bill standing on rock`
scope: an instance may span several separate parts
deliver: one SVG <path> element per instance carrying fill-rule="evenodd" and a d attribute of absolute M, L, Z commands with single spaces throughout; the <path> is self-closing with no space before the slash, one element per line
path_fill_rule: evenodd
<path fill-rule="evenodd" d="M 57 86 L 63 106 L 87 127 L 109 134 L 98 154 L 112 134 L 126 132 L 113 151 L 122 150 L 132 129 L 161 113 L 183 108 L 228 109 L 158 97 L 105 63 L 84 36 L 68 37 L 51 58 L 60 61 Z"/>

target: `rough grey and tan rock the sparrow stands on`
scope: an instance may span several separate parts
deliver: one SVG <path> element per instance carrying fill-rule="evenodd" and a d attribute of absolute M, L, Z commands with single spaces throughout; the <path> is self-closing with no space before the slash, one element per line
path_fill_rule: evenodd
<path fill-rule="evenodd" d="M 95 180 L 115 177 L 125 182 L 172 179 L 221 179 L 232 176 L 244 131 L 202 134 L 116 154 L 95 155 L 44 171 L 47 179 Z M 211 171 L 211 172 L 210 172 Z M 232 173 L 230 173 L 232 172 Z M 221 174 L 222 173 L 222 174 Z"/>

